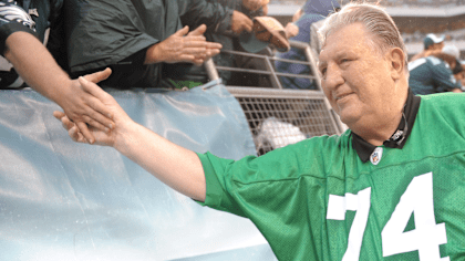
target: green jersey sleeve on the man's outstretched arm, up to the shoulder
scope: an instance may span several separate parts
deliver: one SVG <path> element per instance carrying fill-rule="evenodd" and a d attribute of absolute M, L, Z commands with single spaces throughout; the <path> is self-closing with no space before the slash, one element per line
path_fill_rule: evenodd
<path fill-rule="evenodd" d="M 327 137 L 317 137 L 237 161 L 210 153 L 198 154 L 207 187 L 202 205 L 250 218 L 257 209 L 287 201 L 303 176 L 326 178 L 331 165 L 324 164 L 326 157 L 321 155 L 330 156 L 330 153 L 322 150 L 333 148 L 322 146 L 326 140 Z"/>

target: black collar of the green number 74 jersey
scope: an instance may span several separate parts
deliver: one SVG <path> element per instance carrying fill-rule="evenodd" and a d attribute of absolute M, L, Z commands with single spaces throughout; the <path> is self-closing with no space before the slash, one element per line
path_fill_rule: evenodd
<path fill-rule="evenodd" d="M 418 113 L 420 102 L 420 96 L 415 96 L 409 88 L 407 100 L 404 105 L 404 111 L 402 112 L 402 119 L 391 138 L 383 143 L 384 146 L 400 149 L 404 147 L 404 144 L 409 138 L 410 133 L 412 132 L 416 114 Z M 363 163 L 366 163 L 376 146 L 368 143 L 362 137 L 352 132 L 352 148 L 355 149 L 360 159 Z"/>

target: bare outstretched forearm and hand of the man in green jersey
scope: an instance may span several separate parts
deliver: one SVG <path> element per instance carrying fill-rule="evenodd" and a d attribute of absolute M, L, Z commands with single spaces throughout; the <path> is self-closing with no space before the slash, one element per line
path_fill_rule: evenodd
<path fill-rule="evenodd" d="M 194 152 L 170 143 L 132 121 L 116 101 L 96 84 L 83 77 L 79 81 L 86 92 L 102 101 L 114 115 L 115 128 L 112 132 L 90 128 L 95 144 L 114 147 L 175 190 L 205 201 L 204 168 Z M 86 143 L 79 128 L 63 113 L 54 112 L 54 116 L 63 123 L 74 142 Z"/>

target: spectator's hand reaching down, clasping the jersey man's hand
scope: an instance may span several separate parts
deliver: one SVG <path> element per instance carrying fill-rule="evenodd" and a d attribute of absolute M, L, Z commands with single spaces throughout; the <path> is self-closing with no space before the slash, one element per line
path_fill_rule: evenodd
<path fill-rule="evenodd" d="M 87 81 L 99 83 L 110 76 L 112 70 L 106 69 L 101 72 L 85 75 Z M 87 93 L 78 80 L 71 81 L 71 85 L 62 88 L 62 95 L 58 101 L 64 113 L 72 119 L 84 137 L 93 142 L 93 136 L 87 128 L 87 124 L 101 130 L 110 130 L 114 127 L 111 119 L 112 113 L 104 104 Z"/>

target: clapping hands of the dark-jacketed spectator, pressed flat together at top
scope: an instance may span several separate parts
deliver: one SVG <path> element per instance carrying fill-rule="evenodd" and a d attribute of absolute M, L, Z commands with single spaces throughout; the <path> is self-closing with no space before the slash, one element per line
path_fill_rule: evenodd
<path fill-rule="evenodd" d="M 203 35 L 206 25 L 203 24 L 189 32 L 188 27 L 184 27 L 166 40 L 152 45 L 147 50 L 145 64 L 149 63 L 180 63 L 188 62 L 200 65 L 209 55 L 216 55 L 221 49 L 219 43 L 209 43 Z"/>

